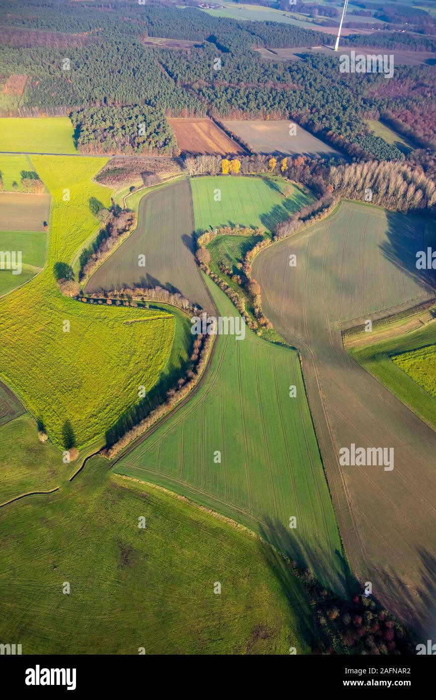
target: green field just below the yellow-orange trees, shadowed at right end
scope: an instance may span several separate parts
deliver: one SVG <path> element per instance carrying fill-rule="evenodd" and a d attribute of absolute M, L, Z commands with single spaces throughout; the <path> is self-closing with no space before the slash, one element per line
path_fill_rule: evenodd
<path fill-rule="evenodd" d="M 190 184 L 197 232 L 238 224 L 272 231 L 311 201 L 297 186 L 293 195 L 285 197 L 287 183 L 281 178 L 211 176 L 191 178 Z"/>

